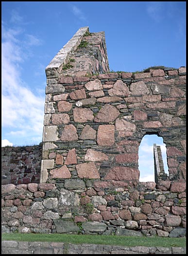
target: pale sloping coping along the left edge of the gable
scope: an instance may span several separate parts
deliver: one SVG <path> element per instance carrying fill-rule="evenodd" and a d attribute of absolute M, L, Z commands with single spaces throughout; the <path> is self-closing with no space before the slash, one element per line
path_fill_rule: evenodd
<path fill-rule="evenodd" d="M 55 57 L 51 60 L 49 65 L 46 67 L 45 70 L 55 68 L 58 69 L 66 60 L 67 55 L 71 52 L 71 50 L 74 49 L 76 43 L 79 39 L 82 39 L 85 32 L 89 29 L 89 27 L 82 27 L 80 28 L 74 36 L 63 46 L 63 48 L 60 49 L 60 51 L 55 55 Z M 71 42 L 73 42 L 71 44 Z M 67 49 L 67 48 L 70 49 Z M 63 56 L 62 56 L 63 55 Z M 64 57 L 64 58 L 62 58 Z"/>

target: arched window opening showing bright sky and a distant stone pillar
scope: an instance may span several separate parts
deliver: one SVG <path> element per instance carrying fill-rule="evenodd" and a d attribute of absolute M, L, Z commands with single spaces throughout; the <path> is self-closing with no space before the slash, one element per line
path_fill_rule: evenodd
<path fill-rule="evenodd" d="M 155 144 L 155 147 L 154 147 L 154 144 Z M 166 145 L 163 143 L 163 138 L 158 137 L 156 134 L 145 135 L 141 140 L 139 150 L 138 150 L 138 168 L 140 171 L 139 181 L 156 182 L 154 172 L 157 172 L 157 170 L 156 170 L 156 166 L 154 167 L 154 148 L 155 148 L 155 152 L 158 149 L 158 155 L 157 157 L 155 155 L 155 158 L 159 158 L 160 165 L 164 166 L 164 169 L 161 167 L 161 169 L 164 170 L 164 176 L 169 175 L 168 165 L 167 165 L 167 153 L 166 153 L 167 149 L 166 149 Z M 161 149 L 163 164 L 161 163 L 161 159 L 160 159 L 161 157 L 160 149 Z"/>

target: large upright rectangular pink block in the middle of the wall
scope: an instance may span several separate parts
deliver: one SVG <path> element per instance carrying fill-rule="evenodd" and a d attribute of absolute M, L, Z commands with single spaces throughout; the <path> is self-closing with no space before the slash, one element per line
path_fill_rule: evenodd
<path fill-rule="evenodd" d="M 112 146 L 115 142 L 115 127 L 112 124 L 99 125 L 97 143 L 100 146 Z"/>

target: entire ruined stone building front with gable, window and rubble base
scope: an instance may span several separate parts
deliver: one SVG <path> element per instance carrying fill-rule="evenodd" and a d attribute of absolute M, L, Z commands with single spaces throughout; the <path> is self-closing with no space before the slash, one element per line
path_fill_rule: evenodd
<path fill-rule="evenodd" d="M 186 68 L 108 70 L 87 27 L 46 68 L 40 184 L 2 186 L 3 232 L 185 236 Z M 167 146 L 157 184 L 139 182 L 146 134 Z"/>

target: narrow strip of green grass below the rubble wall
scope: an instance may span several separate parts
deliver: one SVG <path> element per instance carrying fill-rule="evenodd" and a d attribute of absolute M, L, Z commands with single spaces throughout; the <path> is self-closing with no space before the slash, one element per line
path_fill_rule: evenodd
<path fill-rule="evenodd" d="M 146 237 L 146 236 L 105 236 L 105 235 L 67 235 L 67 234 L 2 234 L 1 240 L 28 242 L 64 242 L 72 244 L 103 244 L 119 246 L 147 247 L 186 247 L 186 238 Z"/>

